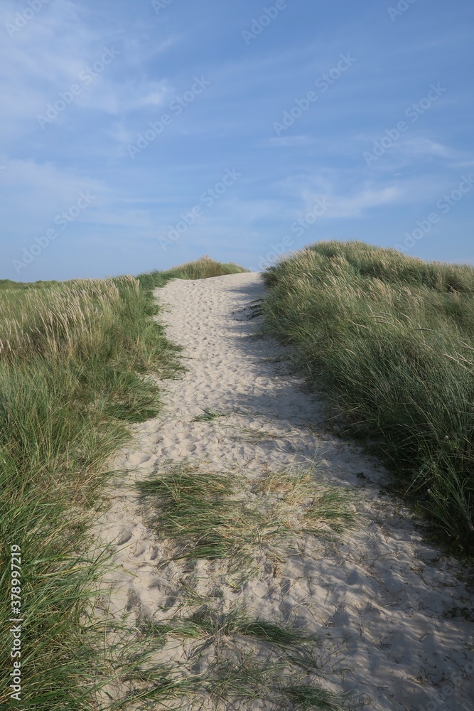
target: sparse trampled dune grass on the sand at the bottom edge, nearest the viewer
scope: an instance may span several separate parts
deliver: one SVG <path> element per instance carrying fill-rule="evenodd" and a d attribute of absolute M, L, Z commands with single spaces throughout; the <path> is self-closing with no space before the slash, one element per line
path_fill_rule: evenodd
<path fill-rule="evenodd" d="M 321 641 L 291 621 L 252 614 L 244 599 L 227 606 L 219 596 L 205 599 L 190 590 L 170 618 L 144 619 L 141 629 L 161 644 L 163 657 L 183 660 L 186 708 L 253 708 L 254 702 L 275 711 L 348 707 L 347 695 L 321 686 Z"/>

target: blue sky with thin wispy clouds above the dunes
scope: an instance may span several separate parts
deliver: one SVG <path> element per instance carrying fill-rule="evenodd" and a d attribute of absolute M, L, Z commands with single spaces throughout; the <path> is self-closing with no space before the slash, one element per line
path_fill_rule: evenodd
<path fill-rule="evenodd" d="M 472 0 L 3 0 L 0 278 L 333 239 L 474 263 L 473 27 Z"/>

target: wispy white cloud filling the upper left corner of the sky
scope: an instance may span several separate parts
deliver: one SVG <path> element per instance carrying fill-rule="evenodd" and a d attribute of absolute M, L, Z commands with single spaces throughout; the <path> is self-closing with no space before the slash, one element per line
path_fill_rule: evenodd
<path fill-rule="evenodd" d="M 69 0 L 55 0 L 43 6 L 18 33 L 9 37 L 6 23 L 15 21 L 18 7 L 7 0 L 0 9 L 0 119 L 4 139 L 18 137 L 38 125 L 36 117 L 45 114 L 47 105 L 58 100 L 71 85 L 80 86 L 71 107 L 60 114 L 63 121 L 77 107 L 107 114 L 123 114 L 166 102 L 171 92 L 164 77 L 144 75 L 134 66 L 129 53 L 131 39 L 114 23 L 99 27 L 87 23 L 87 10 Z M 164 50 L 169 42 L 161 43 Z M 81 80 L 81 73 L 99 61 L 104 50 L 117 53 L 92 81 Z M 147 48 L 142 48 L 142 52 Z M 160 51 L 153 42 L 153 52 Z M 126 68 L 133 65 L 134 80 Z"/>

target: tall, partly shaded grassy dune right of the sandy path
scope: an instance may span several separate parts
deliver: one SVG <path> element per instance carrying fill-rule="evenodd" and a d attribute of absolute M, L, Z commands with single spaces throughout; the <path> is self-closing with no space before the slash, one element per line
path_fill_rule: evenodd
<path fill-rule="evenodd" d="M 319 242 L 266 269 L 264 330 L 338 427 L 397 475 L 438 535 L 474 555 L 474 268 Z"/>

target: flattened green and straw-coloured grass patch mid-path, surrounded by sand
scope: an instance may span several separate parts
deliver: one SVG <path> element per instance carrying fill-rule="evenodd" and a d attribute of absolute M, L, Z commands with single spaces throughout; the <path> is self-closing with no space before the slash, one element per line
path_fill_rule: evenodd
<path fill-rule="evenodd" d="M 249 497 L 235 474 L 210 474 L 187 463 L 136 484 L 141 501 L 156 511 L 149 524 L 176 547 L 173 560 L 225 559 L 232 570 L 247 571 L 259 552 L 276 555 L 285 540 L 308 533 L 332 536 L 355 527 L 347 492 L 316 485 L 308 472 L 304 485 L 299 498 L 294 491 L 288 497 L 265 496 L 258 486 L 257 496 Z"/>

